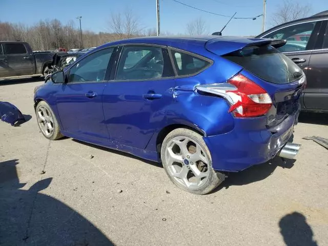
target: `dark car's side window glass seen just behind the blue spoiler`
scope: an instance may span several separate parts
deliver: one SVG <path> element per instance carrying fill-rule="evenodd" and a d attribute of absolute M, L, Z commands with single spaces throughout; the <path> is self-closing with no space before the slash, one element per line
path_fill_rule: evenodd
<path fill-rule="evenodd" d="M 274 31 L 263 38 L 286 39 L 286 45 L 279 47 L 280 52 L 295 52 L 306 49 L 316 22 L 301 23 Z"/>

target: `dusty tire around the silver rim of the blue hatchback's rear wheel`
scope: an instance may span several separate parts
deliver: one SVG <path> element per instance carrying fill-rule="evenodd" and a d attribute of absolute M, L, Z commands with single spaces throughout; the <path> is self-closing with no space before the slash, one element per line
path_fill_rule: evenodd
<path fill-rule="evenodd" d="M 165 151 L 166 151 L 167 145 L 170 143 L 171 139 L 173 139 L 175 137 L 179 137 L 179 136 L 188 137 L 188 138 L 192 139 L 193 141 L 195 141 L 202 148 L 202 150 L 204 150 L 202 153 L 209 160 L 208 161 L 209 163 L 207 166 L 207 168 L 208 168 L 207 172 L 209 175 L 208 179 L 207 179 L 206 183 L 204 183 L 204 185 L 198 189 L 189 189 L 187 186 L 181 185 L 181 183 L 179 183 L 177 181 L 177 179 L 175 177 L 173 177 L 171 172 L 168 170 L 169 167 L 168 167 L 168 163 L 167 163 L 167 160 L 165 157 L 166 156 Z M 165 139 L 162 142 L 162 146 L 161 146 L 161 161 L 162 161 L 163 168 L 165 169 L 165 171 L 168 174 L 171 181 L 180 189 L 188 191 L 190 193 L 199 194 L 199 195 L 207 194 L 207 193 L 211 192 L 213 189 L 215 189 L 217 186 L 219 186 L 225 177 L 224 174 L 216 172 L 213 169 L 211 153 L 210 153 L 208 147 L 206 146 L 206 143 L 204 142 L 202 136 L 189 129 L 178 128 L 178 129 L 171 131 L 165 137 Z M 183 165 L 183 163 L 182 163 L 182 165 Z"/>

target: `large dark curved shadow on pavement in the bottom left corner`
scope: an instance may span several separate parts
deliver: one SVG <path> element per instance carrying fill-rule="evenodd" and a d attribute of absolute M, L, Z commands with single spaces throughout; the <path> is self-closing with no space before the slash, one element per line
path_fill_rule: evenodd
<path fill-rule="evenodd" d="M 0 162 L 0 245 L 114 245 L 84 216 L 40 193 L 52 178 L 29 189 L 19 183 L 17 159 Z"/>

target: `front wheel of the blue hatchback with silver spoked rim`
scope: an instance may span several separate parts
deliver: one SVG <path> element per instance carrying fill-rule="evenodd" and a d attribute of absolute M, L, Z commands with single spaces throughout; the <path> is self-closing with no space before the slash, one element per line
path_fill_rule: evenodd
<path fill-rule="evenodd" d="M 63 137 L 60 134 L 58 121 L 45 101 L 38 103 L 35 113 L 39 129 L 46 138 L 56 140 Z"/>

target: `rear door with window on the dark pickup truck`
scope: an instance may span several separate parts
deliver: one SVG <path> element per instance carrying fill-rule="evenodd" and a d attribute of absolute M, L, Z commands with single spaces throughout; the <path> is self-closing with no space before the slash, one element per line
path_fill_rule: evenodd
<path fill-rule="evenodd" d="M 34 74 L 34 58 L 23 43 L 4 43 L 9 76 Z"/>

